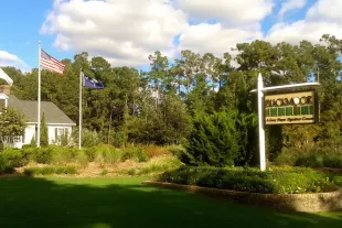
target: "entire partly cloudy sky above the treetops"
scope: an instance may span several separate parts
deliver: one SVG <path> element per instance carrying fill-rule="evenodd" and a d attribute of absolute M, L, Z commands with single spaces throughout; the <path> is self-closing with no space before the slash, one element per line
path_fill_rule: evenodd
<path fill-rule="evenodd" d="M 57 59 L 88 52 L 137 68 L 157 50 L 174 59 L 255 40 L 319 43 L 342 39 L 341 12 L 342 0 L 2 0 L 0 66 L 38 67 L 38 41 Z"/>

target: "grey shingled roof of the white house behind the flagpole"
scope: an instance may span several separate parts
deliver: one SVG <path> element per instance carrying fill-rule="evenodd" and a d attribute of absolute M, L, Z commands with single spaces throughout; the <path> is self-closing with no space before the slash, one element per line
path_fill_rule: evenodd
<path fill-rule="evenodd" d="M 24 116 L 26 122 L 36 123 L 38 119 L 38 101 L 36 100 L 20 100 L 14 95 L 9 95 L 9 108 L 19 109 Z M 66 123 L 73 124 L 71 120 L 53 102 L 41 101 L 41 117 L 45 115 L 46 123 Z"/>

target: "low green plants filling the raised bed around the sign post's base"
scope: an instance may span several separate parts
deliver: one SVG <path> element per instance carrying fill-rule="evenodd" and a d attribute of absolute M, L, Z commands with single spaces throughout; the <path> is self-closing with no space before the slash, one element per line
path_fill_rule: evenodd
<path fill-rule="evenodd" d="M 163 173 L 157 181 L 264 194 L 323 193 L 336 189 L 327 174 L 304 167 L 278 167 L 261 172 L 256 169 L 182 166 Z"/>

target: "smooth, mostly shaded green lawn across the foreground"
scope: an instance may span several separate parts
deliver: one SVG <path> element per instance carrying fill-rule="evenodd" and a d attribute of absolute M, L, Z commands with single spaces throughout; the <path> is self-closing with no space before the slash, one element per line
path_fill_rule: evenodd
<path fill-rule="evenodd" d="M 340 228 L 342 224 L 342 211 L 277 213 L 147 187 L 141 181 L 143 178 L 0 178 L 0 227 Z"/>

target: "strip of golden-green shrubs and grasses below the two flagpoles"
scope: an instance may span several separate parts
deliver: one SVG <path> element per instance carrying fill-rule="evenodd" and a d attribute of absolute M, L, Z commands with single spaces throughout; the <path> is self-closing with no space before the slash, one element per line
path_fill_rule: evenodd
<path fill-rule="evenodd" d="M 8 149 L 0 152 L 0 174 L 13 173 L 15 167 L 26 166 L 29 163 L 52 166 L 76 165 L 78 169 L 86 169 L 93 162 L 96 166 L 105 169 L 116 167 L 119 163 L 124 163 L 127 160 L 129 160 L 128 163 L 137 163 L 138 167 L 137 172 L 130 171 L 128 172 L 129 174 L 161 173 L 174 170 L 182 164 L 175 156 L 171 155 L 170 151 L 174 148 L 179 150 L 180 146 L 169 146 L 167 149 L 152 145 L 129 145 L 118 149 L 108 144 L 99 144 L 83 150 L 57 145 L 46 148 L 24 146 L 22 150 Z M 129 169 L 131 170 L 132 167 L 129 166 Z M 54 173 L 54 171 L 49 171 L 49 169 L 39 172 Z"/>

